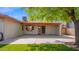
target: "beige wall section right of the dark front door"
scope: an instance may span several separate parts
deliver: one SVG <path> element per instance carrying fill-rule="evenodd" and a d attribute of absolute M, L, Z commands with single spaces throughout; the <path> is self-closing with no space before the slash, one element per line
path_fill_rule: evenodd
<path fill-rule="evenodd" d="M 54 35 L 60 35 L 60 27 L 59 26 L 46 26 L 46 34 L 54 34 Z"/>

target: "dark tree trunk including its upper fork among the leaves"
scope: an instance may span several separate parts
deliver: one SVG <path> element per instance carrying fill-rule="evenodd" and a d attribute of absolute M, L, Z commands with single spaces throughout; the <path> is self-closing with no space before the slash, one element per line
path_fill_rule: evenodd
<path fill-rule="evenodd" d="M 79 20 L 75 17 L 75 11 L 74 9 L 71 9 L 70 11 L 67 11 L 67 14 L 69 17 L 71 17 L 71 20 L 74 22 L 75 26 L 75 44 L 79 47 Z"/>

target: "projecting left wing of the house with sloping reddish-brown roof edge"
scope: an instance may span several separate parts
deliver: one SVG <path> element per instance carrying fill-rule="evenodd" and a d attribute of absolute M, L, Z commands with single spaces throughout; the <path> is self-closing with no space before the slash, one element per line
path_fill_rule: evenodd
<path fill-rule="evenodd" d="M 7 15 L 0 14 L 0 32 L 3 33 L 4 39 L 21 35 L 20 26 L 19 21 Z"/>

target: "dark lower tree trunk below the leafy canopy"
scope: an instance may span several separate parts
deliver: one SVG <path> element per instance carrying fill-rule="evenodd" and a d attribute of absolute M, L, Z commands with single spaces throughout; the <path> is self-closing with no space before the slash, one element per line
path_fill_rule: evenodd
<path fill-rule="evenodd" d="M 75 44 L 79 46 L 79 21 L 78 20 L 74 21 L 74 26 L 75 26 Z"/>

